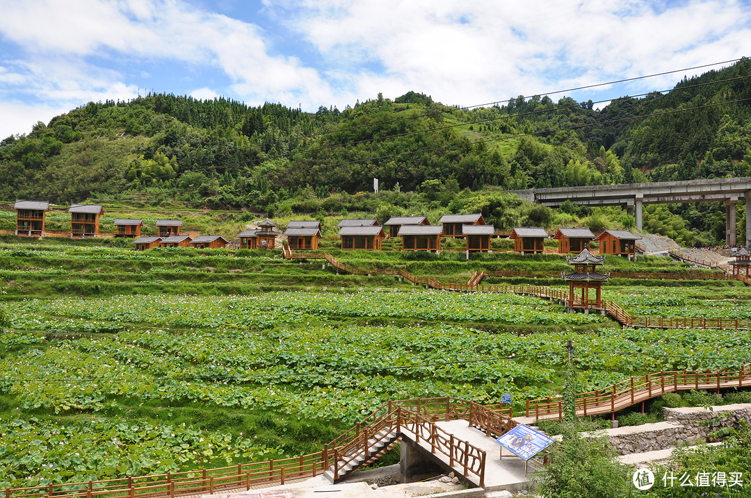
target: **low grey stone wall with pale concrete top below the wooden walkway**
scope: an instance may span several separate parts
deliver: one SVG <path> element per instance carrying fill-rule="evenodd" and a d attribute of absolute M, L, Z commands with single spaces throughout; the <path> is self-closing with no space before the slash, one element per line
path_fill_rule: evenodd
<path fill-rule="evenodd" d="M 707 408 L 664 408 L 665 422 L 632 425 L 584 434 L 607 437 L 618 455 L 653 452 L 674 448 L 678 443 L 693 445 L 699 440 L 709 441 L 709 434 L 721 427 L 737 427 L 740 419 L 751 422 L 751 404 L 734 404 Z M 711 425 L 699 422 L 715 420 Z"/>

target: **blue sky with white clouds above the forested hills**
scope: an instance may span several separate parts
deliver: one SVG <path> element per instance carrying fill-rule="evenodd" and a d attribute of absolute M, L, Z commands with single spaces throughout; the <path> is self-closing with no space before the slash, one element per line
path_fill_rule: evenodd
<path fill-rule="evenodd" d="M 144 89 L 310 111 L 410 90 L 472 106 L 749 55 L 751 0 L 0 0 L 0 138 Z"/>

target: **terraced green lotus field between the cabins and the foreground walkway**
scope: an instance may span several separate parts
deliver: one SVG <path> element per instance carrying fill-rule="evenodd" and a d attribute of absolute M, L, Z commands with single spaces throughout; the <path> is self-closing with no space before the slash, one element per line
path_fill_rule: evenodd
<path fill-rule="evenodd" d="M 0 333 L 0 487 L 291 457 L 389 399 L 489 404 L 510 393 L 520 410 L 562 392 L 569 340 L 578 391 L 751 358 L 746 331 L 621 329 L 535 297 L 428 291 L 267 255 L 107 251 L 0 251 L 11 316 Z M 313 281 L 254 284 L 272 274 Z M 146 286 L 161 279 L 172 284 Z M 175 292 L 176 281 L 195 293 Z M 221 296 L 210 295 L 216 281 Z M 110 282 L 144 287 L 111 295 Z M 343 287 L 324 290 L 330 282 Z M 748 298 L 734 285 L 605 290 L 632 314 L 665 317 L 749 318 Z"/>

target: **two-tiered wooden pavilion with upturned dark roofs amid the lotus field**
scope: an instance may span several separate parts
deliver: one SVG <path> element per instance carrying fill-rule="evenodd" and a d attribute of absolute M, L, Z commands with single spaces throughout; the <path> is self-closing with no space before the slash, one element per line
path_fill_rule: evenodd
<path fill-rule="evenodd" d="M 605 262 L 605 256 L 595 256 L 588 249 L 584 249 L 576 257 L 566 257 L 566 263 L 574 266 L 571 273 L 561 272 L 564 281 L 569 282 L 569 310 L 581 309 L 589 313 L 590 309 L 602 310 L 602 283 L 608 281 L 610 275 L 597 272 L 597 267 Z M 581 290 L 581 298 L 577 291 Z M 590 290 L 595 293 L 595 299 L 590 299 Z"/>

